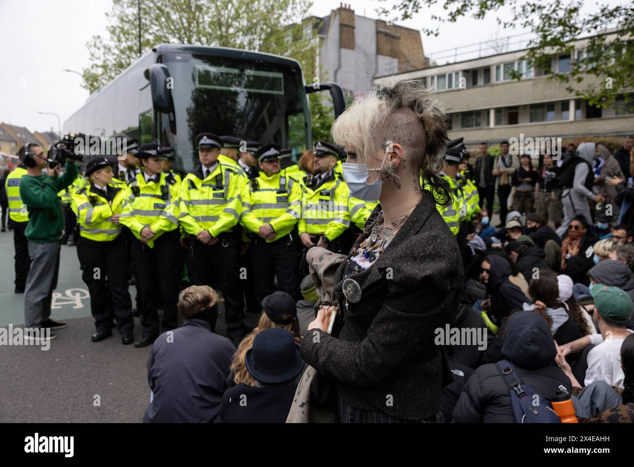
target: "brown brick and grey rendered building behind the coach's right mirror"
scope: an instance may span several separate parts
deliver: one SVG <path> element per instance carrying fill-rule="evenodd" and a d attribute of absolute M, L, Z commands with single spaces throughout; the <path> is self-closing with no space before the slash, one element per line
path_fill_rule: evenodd
<path fill-rule="evenodd" d="M 429 66 L 418 30 L 355 15 L 345 4 L 316 19 L 319 79 L 339 83 L 347 96 L 364 95 L 377 76 Z"/>

